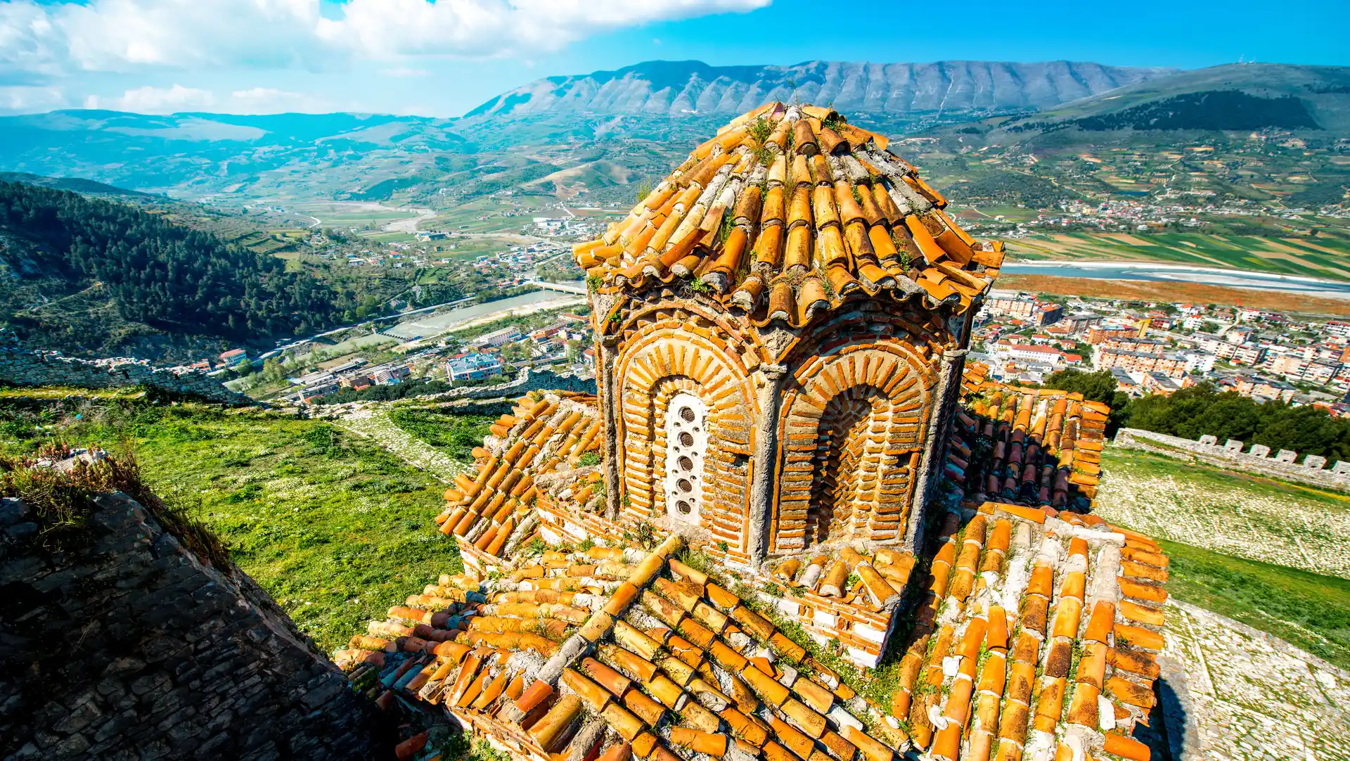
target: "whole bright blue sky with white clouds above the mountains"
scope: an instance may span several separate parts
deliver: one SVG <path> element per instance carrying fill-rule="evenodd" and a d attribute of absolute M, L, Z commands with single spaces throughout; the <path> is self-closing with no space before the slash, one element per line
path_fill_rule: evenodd
<path fill-rule="evenodd" d="M 1350 3 L 0 0 L 0 113 L 458 116 L 531 80 L 653 58 L 1350 65 Z"/>

